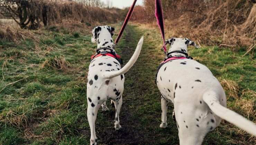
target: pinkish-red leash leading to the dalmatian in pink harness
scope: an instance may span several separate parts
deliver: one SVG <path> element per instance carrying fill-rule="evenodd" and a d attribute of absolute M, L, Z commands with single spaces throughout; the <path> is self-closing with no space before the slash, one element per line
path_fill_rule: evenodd
<path fill-rule="evenodd" d="M 165 38 L 164 38 L 164 14 L 163 14 L 163 9 L 161 5 L 161 0 L 155 0 L 155 7 L 156 7 L 155 16 L 157 19 L 157 24 L 162 34 L 162 38 L 164 41 L 163 49 L 164 49 L 164 53 L 166 54 L 166 46 L 165 46 Z"/>

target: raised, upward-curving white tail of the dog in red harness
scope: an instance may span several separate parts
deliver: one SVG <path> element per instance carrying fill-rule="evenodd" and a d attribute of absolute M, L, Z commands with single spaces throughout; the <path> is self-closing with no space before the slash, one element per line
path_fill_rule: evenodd
<path fill-rule="evenodd" d="M 116 77 L 116 76 L 119 76 L 119 75 L 122 75 L 122 74 L 126 73 L 134 65 L 134 63 L 138 59 L 141 47 L 143 45 L 143 40 L 144 40 L 144 37 L 142 36 L 140 38 L 139 42 L 138 42 L 138 45 L 137 45 L 137 48 L 136 48 L 134 54 L 132 55 L 131 59 L 127 62 L 127 64 L 123 68 L 121 68 L 118 71 L 104 72 L 102 74 L 102 77 L 103 78 L 113 78 L 113 77 Z"/>

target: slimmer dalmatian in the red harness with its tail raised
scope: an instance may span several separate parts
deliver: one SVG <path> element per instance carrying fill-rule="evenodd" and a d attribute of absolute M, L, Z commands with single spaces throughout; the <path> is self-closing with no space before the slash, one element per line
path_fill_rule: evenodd
<path fill-rule="evenodd" d="M 114 28 L 109 26 L 97 26 L 92 30 L 92 42 L 97 43 L 97 50 L 103 53 L 114 52 L 114 43 L 112 36 Z M 143 37 L 139 40 L 137 48 L 127 64 L 121 68 L 120 62 L 111 56 L 102 55 L 94 58 L 89 65 L 88 83 L 87 83 L 87 117 L 91 129 L 90 144 L 97 145 L 97 137 L 95 134 L 95 120 L 98 110 L 102 106 L 103 110 L 108 110 L 106 101 L 111 99 L 116 108 L 116 116 L 114 120 L 115 129 L 121 128 L 119 113 L 122 105 L 122 94 L 124 91 L 124 74 L 136 62 L 141 47 L 143 45 Z M 100 49 L 103 48 L 103 49 Z"/>

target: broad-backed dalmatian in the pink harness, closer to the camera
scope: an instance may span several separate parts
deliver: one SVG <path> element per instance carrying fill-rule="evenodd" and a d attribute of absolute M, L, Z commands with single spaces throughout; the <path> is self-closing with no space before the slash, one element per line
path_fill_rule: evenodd
<path fill-rule="evenodd" d="M 188 46 L 199 48 L 187 38 L 171 38 L 165 43 L 170 44 L 168 58 L 189 58 Z M 219 81 L 199 62 L 192 59 L 166 62 L 158 71 L 156 84 L 162 94 L 160 127 L 167 127 L 167 105 L 172 102 L 180 145 L 201 145 L 207 133 L 220 124 L 221 118 L 256 135 L 253 122 L 226 108 L 226 95 Z"/>

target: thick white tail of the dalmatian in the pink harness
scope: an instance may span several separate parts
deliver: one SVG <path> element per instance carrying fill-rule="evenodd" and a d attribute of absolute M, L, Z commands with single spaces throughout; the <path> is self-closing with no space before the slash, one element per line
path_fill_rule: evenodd
<path fill-rule="evenodd" d="M 256 136 L 256 125 L 234 111 L 220 105 L 215 92 L 204 93 L 203 100 L 217 116 Z"/>

